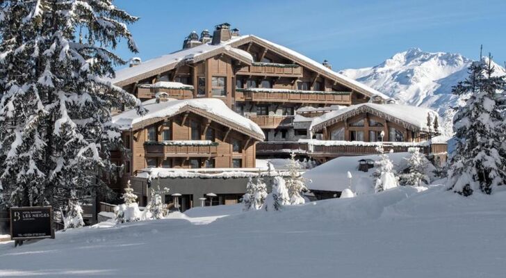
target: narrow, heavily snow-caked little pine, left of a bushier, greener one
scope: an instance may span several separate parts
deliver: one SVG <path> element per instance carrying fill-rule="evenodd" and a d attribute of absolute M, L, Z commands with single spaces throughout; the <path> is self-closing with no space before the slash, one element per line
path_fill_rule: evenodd
<path fill-rule="evenodd" d="M 381 192 L 390 188 L 399 186 L 398 177 L 395 176 L 393 169 L 393 162 L 384 152 L 383 145 L 376 147 L 376 152 L 379 152 L 379 161 L 375 161 L 377 165 L 376 171 L 373 173 L 375 177 L 375 192 Z"/>

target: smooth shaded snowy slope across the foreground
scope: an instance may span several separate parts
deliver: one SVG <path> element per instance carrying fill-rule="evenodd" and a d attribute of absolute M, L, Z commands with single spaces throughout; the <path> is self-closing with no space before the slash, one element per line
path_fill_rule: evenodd
<path fill-rule="evenodd" d="M 506 191 L 464 198 L 441 189 L 104 223 L 1 244 L 0 276 L 505 277 Z"/>

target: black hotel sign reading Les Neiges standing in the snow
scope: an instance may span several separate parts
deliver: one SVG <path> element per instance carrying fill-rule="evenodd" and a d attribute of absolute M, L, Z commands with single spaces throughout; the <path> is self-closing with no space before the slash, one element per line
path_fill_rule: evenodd
<path fill-rule="evenodd" d="M 51 206 L 24 206 L 10 208 L 10 237 L 15 246 L 23 240 L 54 238 L 53 208 Z"/>

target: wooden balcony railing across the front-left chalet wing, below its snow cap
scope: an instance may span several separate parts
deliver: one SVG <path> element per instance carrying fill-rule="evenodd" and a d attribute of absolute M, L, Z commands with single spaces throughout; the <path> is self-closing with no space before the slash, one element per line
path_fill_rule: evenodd
<path fill-rule="evenodd" d="M 145 145 L 146 156 L 211 157 L 218 154 L 216 145 Z"/>

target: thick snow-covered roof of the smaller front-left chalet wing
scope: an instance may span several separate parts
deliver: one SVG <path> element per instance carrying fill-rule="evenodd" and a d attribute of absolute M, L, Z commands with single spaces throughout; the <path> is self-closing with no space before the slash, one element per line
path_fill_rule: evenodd
<path fill-rule="evenodd" d="M 265 139 L 260 126 L 234 111 L 231 111 L 227 105 L 220 99 L 199 98 L 199 99 L 169 99 L 168 101 L 156 102 L 156 99 L 149 99 L 142 103 L 147 109 L 147 114 L 140 116 L 136 109 L 125 111 L 113 117 L 113 123 L 120 126 L 122 130 L 138 129 L 144 123 L 153 120 L 163 120 L 166 117 L 172 117 L 184 111 L 193 111 L 204 113 L 204 116 L 212 116 L 213 120 L 219 121 L 220 124 L 226 124 L 234 129 L 241 131 L 248 136 L 252 136 L 258 140 Z"/>

